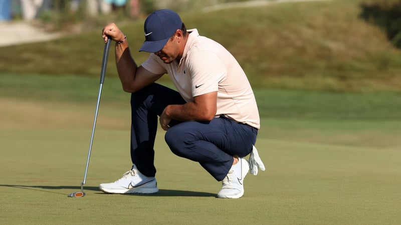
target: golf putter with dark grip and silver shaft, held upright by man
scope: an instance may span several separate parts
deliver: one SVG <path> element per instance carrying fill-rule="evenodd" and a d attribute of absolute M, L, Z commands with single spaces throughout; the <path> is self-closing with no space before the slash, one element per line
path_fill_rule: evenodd
<path fill-rule="evenodd" d="M 96 111 L 95 111 L 95 119 L 93 121 L 93 128 L 92 128 L 92 136 L 91 142 L 89 144 L 89 152 L 88 152 L 88 160 L 86 161 L 86 168 L 85 168 L 85 175 L 84 179 L 81 183 L 81 191 L 80 192 L 72 192 L 68 196 L 69 197 L 83 197 L 86 195 L 84 192 L 84 184 L 86 182 L 86 174 L 88 173 L 88 165 L 89 165 L 89 158 L 91 157 L 91 150 L 92 150 L 92 143 L 93 143 L 93 135 L 95 134 L 95 127 L 96 127 L 96 119 L 97 119 L 97 112 L 99 111 L 99 103 L 100 103 L 100 95 L 102 93 L 102 86 L 104 82 L 104 77 L 106 75 L 106 67 L 107 67 L 107 59 L 109 57 L 109 50 L 110 50 L 111 38 L 108 37 L 107 43 L 104 45 L 103 51 L 103 61 L 102 61 L 102 70 L 100 72 L 100 86 L 99 86 L 99 94 L 97 96 L 97 104 L 96 104 Z"/>

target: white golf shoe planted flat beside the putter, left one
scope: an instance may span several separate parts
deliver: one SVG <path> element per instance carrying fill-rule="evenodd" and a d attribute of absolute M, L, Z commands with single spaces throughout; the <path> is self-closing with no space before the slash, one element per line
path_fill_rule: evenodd
<path fill-rule="evenodd" d="M 112 183 L 101 183 L 99 188 L 106 193 L 151 194 L 159 191 L 156 179 L 143 175 L 135 164 L 120 179 Z"/>

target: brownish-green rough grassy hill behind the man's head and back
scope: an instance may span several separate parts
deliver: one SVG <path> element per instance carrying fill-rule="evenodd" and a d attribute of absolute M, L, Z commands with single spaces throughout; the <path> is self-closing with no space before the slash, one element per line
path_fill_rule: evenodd
<path fill-rule="evenodd" d="M 401 51 L 385 30 L 369 23 L 363 0 L 288 2 L 258 7 L 181 12 L 188 28 L 198 28 L 225 45 L 258 87 L 331 91 L 401 90 Z M 131 51 L 148 56 L 143 19 L 121 23 Z M 7 74 L 98 76 L 103 52 L 101 27 L 54 41 L 0 48 Z M 116 76 L 111 52 L 108 76 Z"/>

